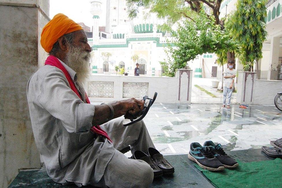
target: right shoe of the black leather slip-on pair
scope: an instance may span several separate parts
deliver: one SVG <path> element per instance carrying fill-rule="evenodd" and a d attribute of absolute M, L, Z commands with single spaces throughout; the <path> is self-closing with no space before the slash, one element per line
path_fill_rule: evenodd
<path fill-rule="evenodd" d="M 148 148 L 149 156 L 152 158 L 153 162 L 163 171 L 163 174 L 173 174 L 174 167 L 166 161 L 164 156 L 159 153 L 155 148 Z"/>

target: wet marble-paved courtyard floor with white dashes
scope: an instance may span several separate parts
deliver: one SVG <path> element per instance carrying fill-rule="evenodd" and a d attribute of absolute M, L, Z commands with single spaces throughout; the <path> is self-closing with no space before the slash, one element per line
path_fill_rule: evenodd
<path fill-rule="evenodd" d="M 220 106 L 155 103 L 144 121 L 157 150 L 165 155 L 187 154 L 192 142 L 212 140 L 225 150 L 245 150 L 282 137 L 282 113 L 274 105 Z"/>

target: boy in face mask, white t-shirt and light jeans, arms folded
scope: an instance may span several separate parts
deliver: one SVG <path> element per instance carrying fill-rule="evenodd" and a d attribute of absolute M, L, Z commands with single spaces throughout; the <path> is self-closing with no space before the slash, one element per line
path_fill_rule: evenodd
<path fill-rule="evenodd" d="M 231 95 L 233 92 L 233 84 L 234 84 L 234 78 L 236 76 L 236 70 L 233 69 L 234 62 L 232 60 L 228 61 L 228 68 L 225 69 L 223 72 L 223 105 L 222 107 L 230 108 L 230 101 L 231 101 Z M 227 103 L 226 103 L 227 99 Z"/>

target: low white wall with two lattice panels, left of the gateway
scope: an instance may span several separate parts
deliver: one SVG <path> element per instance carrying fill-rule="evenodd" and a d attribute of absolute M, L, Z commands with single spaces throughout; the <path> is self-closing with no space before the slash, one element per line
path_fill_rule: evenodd
<path fill-rule="evenodd" d="M 90 76 L 88 82 L 114 82 L 114 97 L 89 97 L 91 102 L 111 102 L 114 100 L 123 99 L 123 82 L 145 82 L 149 83 L 148 96 L 153 97 L 154 93 L 158 93 L 156 102 L 162 103 L 190 103 L 191 91 L 192 91 L 192 70 L 190 71 L 190 78 L 187 78 L 187 74 L 183 73 L 181 76 L 181 100 L 179 97 L 179 72 L 176 77 L 142 77 L 142 76 L 124 76 L 124 75 L 93 75 Z M 188 87 L 189 82 L 189 88 Z M 132 88 L 134 89 L 134 88 Z M 90 89 L 86 88 L 88 95 L 90 96 Z M 189 100 L 187 101 L 187 92 L 189 91 Z M 107 92 L 107 91 L 104 91 Z M 136 91 L 138 93 L 138 91 Z M 135 97 L 135 96 L 131 96 Z M 141 97 L 141 96 L 140 96 Z"/>

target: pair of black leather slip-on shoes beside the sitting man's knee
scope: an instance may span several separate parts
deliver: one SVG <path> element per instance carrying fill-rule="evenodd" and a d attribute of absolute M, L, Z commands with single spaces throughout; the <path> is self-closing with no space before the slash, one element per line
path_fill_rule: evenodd
<path fill-rule="evenodd" d="M 160 154 L 158 150 L 156 150 L 155 148 L 148 148 L 148 154 L 149 155 L 137 150 L 133 153 L 132 158 L 140 159 L 148 163 L 153 169 L 154 178 L 174 173 L 174 167 L 170 165 L 168 161 L 166 161 L 164 156 Z"/>

